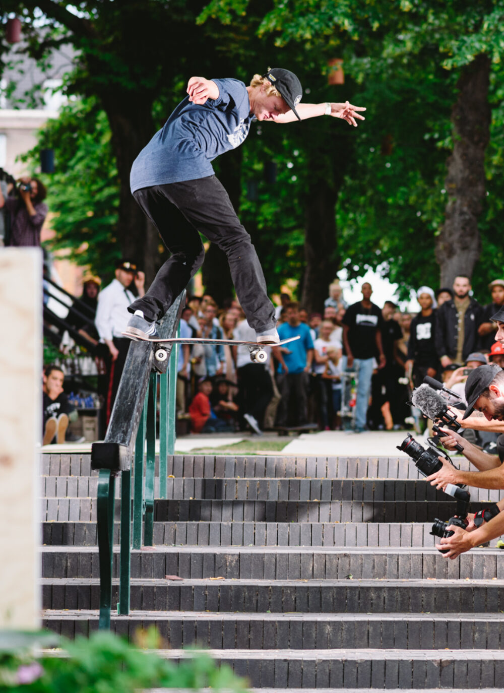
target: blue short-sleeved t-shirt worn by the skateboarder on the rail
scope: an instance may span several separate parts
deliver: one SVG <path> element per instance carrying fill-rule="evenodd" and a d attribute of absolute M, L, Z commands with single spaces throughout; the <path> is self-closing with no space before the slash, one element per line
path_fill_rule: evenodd
<path fill-rule="evenodd" d="M 240 145 L 255 116 L 243 82 L 213 80 L 219 89 L 215 100 L 200 106 L 186 96 L 164 126 L 133 161 L 132 193 L 147 188 L 214 175 L 211 161 Z"/>

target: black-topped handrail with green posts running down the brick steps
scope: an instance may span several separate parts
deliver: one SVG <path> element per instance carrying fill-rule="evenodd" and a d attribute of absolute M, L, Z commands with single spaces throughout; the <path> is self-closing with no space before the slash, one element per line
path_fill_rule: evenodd
<path fill-rule="evenodd" d="M 159 324 L 160 339 L 175 337 L 180 313 L 185 305 L 185 291 Z M 175 430 L 168 431 L 172 421 L 175 428 L 175 388 L 177 381 L 177 348 L 166 344 L 169 359 L 157 360 L 155 342 L 131 342 L 121 382 L 110 416 L 105 441 L 92 444 L 91 466 L 99 471 L 97 502 L 97 536 L 100 563 L 100 618 L 99 629 L 110 629 L 112 608 L 112 570 L 114 558 L 114 505 L 115 479 L 121 475 L 121 553 L 119 563 L 119 613 L 130 611 L 130 553 L 131 553 L 131 490 L 133 471 L 133 547 L 141 547 L 141 525 L 144 520 L 144 545 L 153 543 L 154 477 L 156 441 L 156 397 L 158 380 L 161 389 L 168 390 L 162 397 L 160 411 L 160 439 L 164 442 L 164 479 L 161 489 L 166 497 L 166 454 L 173 454 Z M 168 412 L 173 412 L 169 414 Z M 144 464 L 145 442 L 147 456 Z M 160 458 L 162 455 L 160 455 Z M 161 462 L 161 459 L 160 459 Z M 161 466 L 161 465 L 160 465 Z M 144 480 L 145 468 L 145 480 Z M 145 483 L 145 491 L 144 491 Z"/>

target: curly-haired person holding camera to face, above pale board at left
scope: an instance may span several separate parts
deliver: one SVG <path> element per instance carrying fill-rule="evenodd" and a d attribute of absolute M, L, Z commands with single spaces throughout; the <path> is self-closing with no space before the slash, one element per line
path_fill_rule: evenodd
<path fill-rule="evenodd" d="M 17 195 L 4 197 L 0 188 L 0 208 L 10 213 L 10 245 L 40 246 L 40 231 L 47 216 L 47 192 L 38 178 L 20 179 Z"/>

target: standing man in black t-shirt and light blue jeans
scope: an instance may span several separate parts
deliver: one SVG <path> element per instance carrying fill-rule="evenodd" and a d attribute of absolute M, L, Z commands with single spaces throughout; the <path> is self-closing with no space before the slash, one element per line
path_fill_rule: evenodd
<path fill-rule="evenodd" d="M 378 306 L 371 302 L 372 287 L 368 282 L 361 288 L 363 299 L 349 308 L 343 317 L 343 362 L 347 370 L 355 370 L 358 377 L 356 393 L 355 432 L 365 430 L 367 404 L 370 398 L 374 358 L 379 368 L 385 367 L 385 354 L 381 344 L 383 317 Z"/>

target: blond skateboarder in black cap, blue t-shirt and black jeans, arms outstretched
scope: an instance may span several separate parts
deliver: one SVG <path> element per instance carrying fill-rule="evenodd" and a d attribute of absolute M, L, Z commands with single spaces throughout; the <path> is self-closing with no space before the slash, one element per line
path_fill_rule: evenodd
<path fill-rule="evenodd" d="M 292 72 L 273 68 L 250 86 L 235 79 L 191 77 L 186 98 L 134 160 L 134 199 L 157 227 L 171 257 L 146 295 L 128 308 L 128 335 L 157 334 L 155 321 L 201 267 L 198 231 L 227 255 L 238 300 L 258 342 L 278 342 L 275 308 L 250 236 L 241 225 L 211 161 L 236 148 L 252 121 L 288 123 L 329 115 L 356 126 L 365 108 L 346 103 L 299 104 L 302 87 Z"/>

